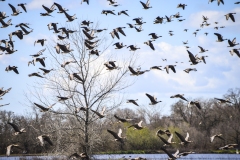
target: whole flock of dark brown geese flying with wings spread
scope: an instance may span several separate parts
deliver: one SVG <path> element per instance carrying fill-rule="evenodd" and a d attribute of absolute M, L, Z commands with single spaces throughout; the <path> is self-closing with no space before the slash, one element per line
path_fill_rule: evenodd
<path fill-rule="evenodd" d="M 5 1 L 5 0 L 1 0 L 1 1 Z M 120 4 L 118 4 L 114 0 L 107 0 L 107 1 L 109 1 L 109 5 L 111 5 L 113 7 L 117 7 L 117 6 L 120 5 Z M 209 0 L 208 3 L 212 3 L 214 1 L 215 0 Z M 83 2 L 86 2 L 87 4 L 89 4 L 89 0 L 82 0 L 81 3 L 83 3 Z M 145 9 L 145 10 L 153 8 L 150 5 L 150 0 L 147 0 L 147 2 L 140 1 L 140 4 L 142 5 L 143 9 Z M 217 4 L 218 5 L 221 5 L 221 4 L 223 5 L 224 1 L 223 0 L 217 0 Z M 240 4 L 240 2 L 235 2 L 235 4 Z M 20 9 L 16 9 L 12 4 L 9 3 L 8 5 L 12 9 L 11 16 L 18 16 L 19 14 L 22 13 L 20 11 Z M 27 13 L 26 5 L 27 5 L 26 3 L 20 3 L 17 6 L 21 7 L 21 9 L 24 12 Z M 44 6 L 44 5 L 42 5 L 42 7 L 45 10 L 45 12 L 44 13 L 40 13 L 40 16 L 52 16 L 51 13 L 53 13 L 55 10 L 58 10 L 57 13 L 60 13 L 60 14 L 62 13 L 62 14 L 65 15 L 65 17 L 67 19 L 66 22 L 72 22 L 75 19 L 77 19 L 75 14 L 72 15 L 72 16 L 69 15 L 67 13 L 68 9 L 63 8 L 60 4 L 58 4 L 56 2 L 54 2 L 54 4 L 50 8 L 48 8 L 48 7 Z M 185 10 L 187 8 L 187 4 L 181 4 L 180 3 L 180 4 L 177 5 L 177 8 Z M 124 14 L 125 16 L 129 16 L 127 11 L 128 10 L 119 11 L 118 15 Z M 109 14 L 116 15 L 114 13 L 114 10 L 103 10 L 101 12 L 101 14 L 104 14 L 106 16 L 109 15 Z M 231 20 L 232 22 L 235 22 L 234 14 L 236 14 L 236 13 L 228 13 L 228 14 L 226 14 L 225 15 L 226 20 Z M 9 19 L 7 21 L 5 20 L 8 17 L 9 16 L 7 16 L 7 14 L 5 12 L 0 12 L 0 23 L 2 24 L 1 28 L 7 28 L 7 27 L 13 25 L 11 23 L 12 19 Z M 180 17 L 182 17 L 182 16 L 180 16 L 179 12 L 177 14 L 171 15 L 171 16 L 165 16 L 165 17 L 158 16 L 158 17 L 156 17 L 156 19 L 154 20 L 153 23 L 154 24 L 170 23 L 170 22 L 173 21 L 173 19 L 177 19 L 179 22 L 182 22 L 182 21 L 185 20 L 185 19 L 179 19 Z M 207 18 L 207 16 L 203 15 L 203 22 L 200 24 L 200 27 L 203 28 L 204 26 L 209 26 L 210 23 L 208 23 L 208 20 L 209 20 L 209 18 Z M 135 24 L 127 23 L 128 27 L 136 29 L 137 32 L 142 32 L 143 31 L 143 25 L 146 23 L 146 22 L 143 21 L 143 18 L 134 18 L 133 21 L 135 22 Z M 87 21 L 87 20 L 84 20 L 81 23 L 82 32 L 84 33 L 84 35 L 86 37 L 86 39 L 84 41 L 84 45 L 89 50 L 89 54 L 95 55 L 95 56 L 100 56 L 100 51 L 97 49 L 99 40 L 95 40 L 95 38 L 97 38 L 96 34 L 102 32 L 104 30 L 107 30 L 107 29 L 91 29 L 89 26 L 92 23 L 93 22 L 90 22 L 90 21 Z M 217 23 L 218 22 L 215 22 L 215 24 L 217 24 Z M 68 39 L 70 34 L 72 34 L 74 32 L 77 32 L 75 30 L 70 30 L 70 29 L 67 29 L 65 27 L 58 28 L 57 25 L 58 25 L 58 23 L 49 23 L 47 25 L 47 27 L 48 27 L 49 30 L 54 30 L 54 33 L 56 33 L 56 34 L 62 33 L 62 34 L 58 35 L 58 40 L 60 42 L 62 40 Z M 20 24 L 17 24 L 16 27 L 20 27 L 21 29 L 9 33 L 9 35 L 8 35 L 9 39 L 2 39 L 2 40 L 0 40 L 0 51 L 2 52 L 1 54 L 5 53 L 5 54 L 10 54 L 11 55 L 11 54 L 17 52 L 17 50 L 14 49 L 14 42 L 15 42 L 15 41 L 13 41 L 13 37 L 14 36 L 16 36 L 18 39 L 22 40 L 25 36 L 27 36 L 28 34 L 31 34 L 33 32 L 33 29 L 30 28 L 29 23 L 20 23 Z M 112 38 L 116 37 L 117 39 L 120 39 L 120 35 L 126 36 L 126 34 L 124 32 L 125 28 L 126 27 L 114 28 L 110 32 L 111 37 Z M 224 26 L 221 26 L 219 28 L 224 28 Z M 193 34 L 196 36 L 199 30 L 200 29 L 196 30 Z M 184 29 L 184 31 L 187 32 L 188 29 Z M 173 31 L 169 31 L 169 35 L 173 36 L 174 35 Z M 205 35 L 207 36 L 208 33 L 205 32 Z M 217 36 L 217 40 L 216 40 L 217 42 L 223 42 L 223 41 L 227 40 L 228 44 L 229 44 L 228 47 L 235 47 L 236 45 L 239 45 L 239 43 L 236 42 L 236 38 L 234 38 L 233 40 L 230 40 L 230 39 L 224 39 L 223 36 L 221 34 L 219 34 L 219 33 L 214 33 L 214 35 Z M 151 39 L 146 41 L 146 42 L 144 42 L 144 44 L 149 46 L 150 49 L 154 51 L 155 47 L 154 47 L 152 42 L 156 41 L 158 38 L 160 38 L 162 36 L 158 36 L 156 33 L 150 33 L 149 36 L 151 36 Z M 34 42 L 34 46 L 35 45 L 44 46 L 45 45 L 45 41 L 47 41 L 47 39 L 38 39 L 38 40 L 36 40 Z M 62 54 L 62 53 L 67 54 L 67 53 L 70 53 L 70 52 L 74 51 L 73 49 L 70 48 L 70 43 L 68 43 L 68 44 L 61 44 L 60 42 L 57 43 L 56 46 L 55 46 L 56 53 L 58 53 L 58 54 Z M 183 44 L 187 45 L 188 41 L 183 42 Z M 133 51 L 133 52 L 135 52 L 138 49 L 140 49 L 136 45 L 128 45 L 127 46 L 127 45 L 124 45 L 121 42 L 116 42 L 116 43 L 113 44 L 113 46 L 116 47 L 115 49 L 122 49 L 122 48 L 126 47 L 126 48 L 129 48 L 129 50 Z M 208 57 L 208 56 L 193 55 L 193 53 L 191 53 L 188 50 L 189 47 L 188 46 L 185 46 L 185 47 L 186 47 L 187 53 L 189 55 L 190 65 L 197 65 L 197 64 L 199 64 L 201 62 L 206 64 L 206 59 L 205 58 Z M 208 51 L 208 50 L 204 49 L 201 46 L 198 46 L 198 47 L 200 49 L 199 53 L 205 53 L 205 52 Z M 30 65 L 34 65 L 35 66 L 36 63 L 39 62 L 42 65 L 42 67 L 44 67 L 44 68 L 39 68 L 41 71 L 43 71 L 43 75 L 41 75 L 40 72 L 34 72 L 34 73 L 30 73 L 28 75 L 29 77 L 36 76 L 36 77 L 39 77 L 39 78 L 44 78 L 44 76 L 46 74 L 49 74 L 51 71 L 54 71 L 54 69 L 45 69 L 45 67 L 46 67 L 45 59 L 47 57 L 40 57 L 40 56 L 43 55 L 43 52 L 45 50 L 46 50 L 46 48 L 40 50 L 36 54 L 30 55 L 32 57 L 32 60 L 28 62 L 28 66 L 30 66 Z M 231 53 L 231 55 L 236 54 L 240 58 L 240 54 L 239 54 L 238 50 L 239 49 L 232 49 L 229 52 Z M 167 61 L 167 59 L 163 59 L 163 61 Z M 67 65 L 69 65 L 70 63 L 76 63 L 76 61 L 66 61 L 66 62 L 63 62 L 61 64 L 61 67 L 64 68 Z M 117 66 L 116 61 L 108 61 L 108 62 L 104 63 L 104 65 L 106 66 L 106 69 L 109 70 L 109 71 L 119 70 L 121 68 L 120 66 Z M 165 70 L 167 72 L 167 74 L 169 74 L 171 71 L 173 73 L 176 73 L 176 68 L 175 67 L 176 67 L 175 64 L 171 64 L 171 65 L 166 65 L 163 68 L 162 68 L 162 66 L 152 66 L 152 67 L 150 67 L 150 69 L 147 69 L 147 70 L 141 70 L 140 67 L 135 69 L 135 68 L 133 68 L 131 66 L 128 66 L 128 69 L 131 72 L 131 74 L 130 74 L 131 76 L 140 76 L 140 75 L 142 75 L 142 74 L 144 74 L 146 72 L 149 72 L 150 70 L 159 70 L 159 71 Z M 10 66 L 9 65 L 9 66 L 6 67 L 5 71 L 7 71 L 7 72 L 13 71 L 16 74 L 19 74 L 17 66 Z M 184 69 L 184 71 L 186 73 L 190 73 L 191 71 L 197 71 L 197 69 L 196 68 L 186 68 L 186 69 Z M 69 75 L 69 79 L 70 80 L 75 80 L 75 81 L 77 81 L 79 83 L 81 83 L 83 81 L 78 73 L 70 74 Z M 11 88 L 8 88 L 6 90 L 1 88 L 0 89 L 0 100 L 2 99 L 2 97 L 5 94 L 9 93 L 10 90 L 11 90 Z M 150 100 L 149 105 L 156 105 L 159 102 L 161 102 L 161 101 L 157 100 L 157 98 L 154 95 L 150 95 L 150 94 L 146 93 L 146 96 Z M 73 98 L 73 95 L 70 95 L 68 97 L 58 96 L 57 98 L 58 98 L 58 102 L 61 102 L 61 101 L 66 101 L 68 99 Z M 188 103 L 189 107 L 193 105 L 193 106 L 196 106 L 200 110 L 202 108 L 198 101 L 188 101 L 184 97 L 184 94 L 175 94 L 175 95 L 171 96 L 170 98 L 180 98 L 180 99 L 186 101 Z M 215 98 L 215 99 L 219 103 L 232 103 L 229 99 L 220 99 L 220 98 Z M 132 103 L 132 104 L 134 104 L 136 106 L 139 106 L 138 103 L 137 103 L 137 100 L 138 99 L 129 99 L 129 100 L 127 100 L 127 103 Z M 34 103 L 34 105 L 36 107 L 38 107 L 41 112 L 48 112 L 56 103 L 52 104 L 51 106 L 43 106 L 43 105 L 38 104 L 38 103 Z M 0 105 L 0 107 L 6 106 L 6 105 L 9 105 L 9 104 L 10 103 L 3 104 L 3 105 Z M 91 111 L 94 114 L 96 114 L 100 119 L 105 117 L 105 114 L 104 114 L 105 110 L 106 110 L 106 107 L 103 107 L 101 112 L 98 112 L 96 110 L 92 110 L 91 109 Z M 77 108 L 75 110 L 75 113 L 79 113 L 80 111 L 86 111 L 86 108 L 84 108 L 84 107 Z M 132 121 L 132 119 L 124 119 L 124 118 L 121 118 L 121 117 L 119 117 L 117 115 L 114 115 L 114 117 L 120 123 L 131 123 L 131 121 Z M 141 130 L 141 129 L 143 129 L 145 127 L 145 126 L 142 126 L 142 123 L 143 123 L 143 121 L 141 120 L 139 123 L 131 124 L 128 128 L 133 128 L 134 130 Z M 25 128 L 19 129 L 19 127 L 16 124 L 14 124 L 14 123 L 8 122 L 8 124 L 13 127 L 13 129 L 15 131 L 15 133 L 14 133 L 15 136 L 17 136 L 19 134 L 23 134 L 23 133 L 26 132 Z M 107 131 L 114 137 L 115 141 L 117 141 L 119 143 L 125 143 L 126 137 L 122 137 L 122 129 L 119 129 L 118 133 L 114 132 L 112 130 L 107 130 Z M 188 145 L 189 143 L 192 143 L 192 141 L 188 140 L 189 139 L 189 133 L 188 132 L 186 133 L 186 137 L 183 137 L 178 132 L 175 132 L 175 134 L 180 139 L 180 141 L 181 141 L 180 144 L 181 145 Z M 164 145 L 163 145 L 163 147 L 161 149 L 169 156 L 169 159 L 173 160 L 173 159 L 177 159 L 177 158 L 179 158 L 181 156 L 187 156 L 188 154 L 194 153 L 192 151 L 179 153 L 179 150 L 177 150 L 175 154 L 171 154 L 171 153 L 169 153 L 166 150 L 165 147 L 166 146 L 171 146 L 172 144 L 176 143 L 176 142 L 172 141 L 173 133 L 170 133 L 169 130 L 158 130 L 156 135 L 164 143 Z M 168 139 L 164 138 L 163 135 L 166 135 L 168 137 Z M 40 143 L 41 146 L 44 146 L 45 143 L 48 143 L 49 145 L 54 145 L 54 143 L 51 141 L 51 136 L 50 135 L 39 135 L 36 138 L 39 140 L 39 143 Z M 212 143 L 215 138 L 223 139 L 222 138 L 222 134 L 216 134 L 216 135 L 213 135 L 212 137 L 210 137 L 210 142 Z M 229 148 L 234 148 L 236 146 L 237 146 L 237 144 L 228 144 L 226 146 L 220 147 L 219 149 L 229 149 Z M 7 152 L 6 152 L 7 156 L 10 155 L 11 149 L 13 147 L 20 148 L 20 149 L 24 150 L 23 148 L 20 147 L 19 144 L 10 144 L 7 147 Z M 74 153 L 69 158 L 70 159 L 74 159 L 74 158 L 89 159 L 89 156 L 86 153 L 81 153 L 81 154 Z M 139 159 L 141 159 L 141 158 L 139 157 Z"/>

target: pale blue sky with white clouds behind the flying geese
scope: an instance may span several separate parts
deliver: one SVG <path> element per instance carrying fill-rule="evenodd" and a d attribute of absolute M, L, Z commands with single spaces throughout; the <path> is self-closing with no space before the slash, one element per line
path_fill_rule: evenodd
<path fill-rule="evenodd" d="M 33 28 L 33 32 L 24 36 L 23 40 L 13 37 L 15 41 L 14 49 L 18 50 L 17 52 L 12 55 L 0 55 L 0 87 L 4 87 L 4 89 L 12 87 L 12 90 L 3 97 L 3 100 L 0 100 L 0 104 L 10 103 L 10 105 L 1 107 L 0 110 L 14 111 L 17 114 L 25 114 L 26 111 L 31 110 L 25 105 L 24 94 L 29 87 L 33 86 L 36 78 L 29 78 L 28 74 L 38 71 L 37 69 L 41 66 L 37 64 L 36 67 L 28 67 L 28 61 L 32 59 L 29 55 L 46 48 L 52 39 L 56 39 L 56 35 L 52 33 L 53 30 L 49 31 L 47 27 L 47 24 L 51 22 L 58 22 L 59 27 L 68 24 L 76 25 L 82 20 L 98 22 L 100 28 L 107 28 L 105 32 L 108 35 L 109 42 L 112 41 L 112 38 L 108 33 L 114 28 L 126 27 L 124 29 L 126 37 L 120 35 L 120 40 L 115 38 L 113 42 L 123 42 L 125 45 L 134 44 L 140 47 L 141 49 L 136 52 L 139 55 L 137 63 L 141 66 L 141 69 L 149 69 L 156 65 L 160 65 L 162 68 L 169 64 L 176 65 L 176 73 L 170 71 L 167 74 L 165 70 L 152 70 L 138 76 L 136 82 L 125 90 L 127 98 L 138 99 L 138 103 L 142 106 L 148 106 L 149 103 L 145 93 L 155 95 L 158 100 L 162 101 L 155 107 L 162 107 L 163 115 L 169 114 L 171 104 L 178 101 L 178 99 L 171 99 L 170 96 L 172 95 L 184 94 L 187 99 L 222 98 L 228 89 L 239 87 L 240 59 L 236 54 L 231 56 L 229 50 L 240 48 L 240 46 L 227 47 L 227 41 L 216 42 L 217 36 L 214 35 L 214 33 L 220 33 L 226 39 L 232 40 L 236 37 L 237 43 L 240 41 L 240 4 L 234 4 L 236 0 L 225 0 L 225 4 L 219 6 L 216 1 L 208 4 L 208 0 L 151 0 L 150 6 L 152 8 L 147 10 L 143 9 L 141 3 L 137 0 L 116 1 L 120 6 L 110 6 L 107 0 L 90 0 L 89 5 L 87 3 L 81 4 L 80 0 L 21 0 L 21 3 L 26 3 L 27 13 L 17 6 L 18 0 L 0 2 L 0 11 L 6 12 L 9 16 L 4 21 L 12 19 L 13 24 L 7 28 L 0 28 L 0 39 L 8 39 L 9 33 L 19 29 L 15 28 L 18 23 L 29 23 L 30 27 Z M 64 14 L 59 14 L 57 11 L 51 14 L 53 17 L 40 16 L 40 13 L 45 12 L 42 5 L 51 7 L 54 2 L 69 9 L 68 13 L 70 15 L 76 14 L 78 19 L 70 23 L 66 22 L 67 19 Z M 11 16 L 12 11 L 8 3 L 19 8 L 23 13 L 18 16 Z M 179 3 L 187 4 L 185 10 L 177 8 Z M 116 15 L 103 15 L 101 14 L 102 10 L 114 10 Z M 121 10 L 128 10 L 129 16 L 118 16 L 117 12 Z M 178 22 L 174 18 L 172 22 L 153 24 L 157 16 L 165 17 L 165 15 L 170 16 L 177 12 L 182 16 L 180 19 L 185 19 L 184 21 Z M 236 22 L 226 20 L 224 15 L 233 12 L 236 13 L 234 15 Z M 203 15 L 209 18 L 208 23 L 210 25 L 201 28 Z M 127 23 L 134 24 L 135 22 L 132 19 L 138 17 L 142 17 L 143 21 L 146 22 L 142 25 L 142 32 L 137 32 L 134 28 L 127 26 Z M 215 22 L 218 22 L 218 24 L 215 24 Z M 214 27 L 220 26 L 225 26 L 225 28 L 214 29 Z M 184 32 L 184 29 L 188 29 L 188 31 Z M 200 29 L 200 31 L 195 37 L 193 32 L 197 29 Z M 173 36 L 169 36 L 170 30 L 173 31 Z M 207 36 L 204 34 L 205 32 L 208 32 Z M 154 51 L 144 44 L 151 38 L 148 35 L 149 33 L 162 36 L 153 42 Z M 46 46 L 42 47 L 39 44 L 34 46 L 34 41 L 42 38 L 47 39 Z M 190 52 L 194 55 L 208 56 L 206 57 L 206 64 L 190 65 L 187 50 L 183 45 L 183 41 L 187 40 Z M 202 46 L 208 51 L 199 53 L 198 46 Z M 115 50 L 114 48 L 114 46 L 111 46 L 107 52 L 132 54 L 126 47 L 121 50 Z M 47 52 L 45 51 L 45 56 L 48 56 Z M 162 60 L 165 58 L 167 61 Z M 46 64 L 48 63 L 50 63 L 50 60 L 47 58 Z M 19 75 L 12 71 L 6 72 L 5 68 L 8 65 L 17 66 Z M 196 68 L 197 71 L 187 74 L 183 71 L 186 68 Z M 136 109 L 136 106 L 127 103 L 122 107 Z"/>

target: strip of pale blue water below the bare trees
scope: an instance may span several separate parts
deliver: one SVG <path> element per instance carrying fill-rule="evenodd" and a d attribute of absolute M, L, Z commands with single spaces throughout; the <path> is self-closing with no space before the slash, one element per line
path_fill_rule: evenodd
<path fill-rule="evenodd" d="M 142 157 L 148 160 L 166 160 L 166 154 L 111 154 L 111 155 L 94 155 L 95 160 L 114 160 L 123 158 Z M 23 157 L 0 157 L 0 160 L 65 160 L 64 156 L 23 156 Z M 191 160 L 240 160 L 240 154 L 189 154 L 188 156 L 178 158 Z"/>

